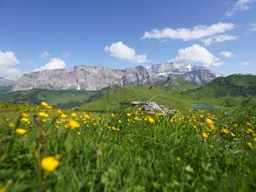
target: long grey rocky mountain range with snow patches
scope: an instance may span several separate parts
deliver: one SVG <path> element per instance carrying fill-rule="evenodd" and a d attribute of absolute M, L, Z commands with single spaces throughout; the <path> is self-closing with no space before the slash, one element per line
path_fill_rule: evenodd
<path fill-rule="evenodd" d="M 112 84 L 149 84 L 170 76 L 195 84 L 206 84 L 218 77 L 218 73 L 206 67 L 184 66 L 175 62 L 125 69 L 79 65 L 71 69 L 26 73 L 15 81 L 13 90 L 101 90 Z"/>

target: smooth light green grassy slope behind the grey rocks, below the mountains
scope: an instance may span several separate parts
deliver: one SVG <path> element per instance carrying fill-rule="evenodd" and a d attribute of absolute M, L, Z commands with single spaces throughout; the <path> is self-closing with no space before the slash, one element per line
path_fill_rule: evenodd
<path fill-rule="evenodd" d="M 155 87 L 148 90 L 146 86 L 140 87 L 125 87 L 116 93 L 111 93 L 109 96 L 103 96 L 100 99 L 97 99 L 94 102 L 85 103 L 81 108 L 86 110 L 100 110 L 119 108 L 119 102 L 131 102 L 131 101 L 142 101 L 146 102 L 149 99 L 154 97 L 154 102 L 159 102 L 160 104 L 164 104 L 169 108 L 192 108 L 192 104 L 194 103 L 211 103 L 215 106 L 221 106 L 226 99 L 232 100 L 234 106 L 239 106 L 242 97 L 223 97 L 218 100 L 214 98 L 205 98 L 196 100 L 194 98 L 190 98 L 189 96 L 182 96 L 180 94 L 180 90 L 160 90 Z M 107 105 L 108 103 L 108 105 Z"/>

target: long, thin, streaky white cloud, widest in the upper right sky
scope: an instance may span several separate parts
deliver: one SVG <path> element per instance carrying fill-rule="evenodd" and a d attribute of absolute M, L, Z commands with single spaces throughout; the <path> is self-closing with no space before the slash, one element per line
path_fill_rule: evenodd
<path fill-rule="evenodd" d="M 162 30 L 153 29 L 150 32 L 144 32 L 142 38 L 171 38 L 182 39 L 183 41 L 207 38 L 212 35 L 221 34 L 234 29 L 236 26 L 233 23 L 213 24 L 212 26 L 195 26 L 193 28 L 164 28 Z"/>

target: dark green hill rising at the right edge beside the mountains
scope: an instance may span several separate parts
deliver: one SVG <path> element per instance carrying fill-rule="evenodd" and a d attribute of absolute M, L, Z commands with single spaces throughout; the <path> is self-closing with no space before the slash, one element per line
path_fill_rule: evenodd
<path fill-rule="evenodd" d="M 239 74 L 219 77 L 200 88 L 185 90 L 182 94 L 183 96 L 191 96 L 197 99 L 224 96 L 256 96 L 256 76 Z"/>

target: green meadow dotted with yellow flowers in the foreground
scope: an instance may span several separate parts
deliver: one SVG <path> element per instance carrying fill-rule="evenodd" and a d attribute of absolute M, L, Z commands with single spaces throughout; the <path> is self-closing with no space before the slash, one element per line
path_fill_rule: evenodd
<path fill-rule="evenodd" d="M 217 110 L 217 109 L 216 109 Z M 256 108 L 0 104 L 0 191 L 256 191 Z"/>

